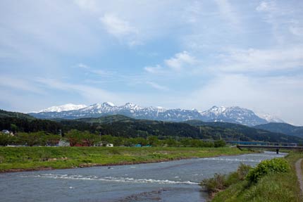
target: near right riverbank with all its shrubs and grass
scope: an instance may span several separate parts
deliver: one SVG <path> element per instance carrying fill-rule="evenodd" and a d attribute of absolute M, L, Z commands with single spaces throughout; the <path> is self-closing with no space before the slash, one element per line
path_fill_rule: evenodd
<path fill-rule="evenodd" d="M 256 168 L 240 165 L 230 175 L 216 174 L 201 185 L 209 191 L 211 201 L 300 201 L 295 162 L 302 152 L 291 152 L 286 158 L 264 160 Z"/>

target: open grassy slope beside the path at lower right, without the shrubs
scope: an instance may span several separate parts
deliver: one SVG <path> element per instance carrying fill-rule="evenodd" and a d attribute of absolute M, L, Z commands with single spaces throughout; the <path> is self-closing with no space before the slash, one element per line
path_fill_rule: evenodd
<path fill-rule="evenodd" d="M 300 201 L 295 173 L 295 162 L 299 158 L 303 158 L 303 153 L 290 153 L 286 157 L 292 168 L 290 172 L 268 175 L 250 187 L 246 181 L 233 184 L 225 191 L 219 192 L 213 201 Z"/>

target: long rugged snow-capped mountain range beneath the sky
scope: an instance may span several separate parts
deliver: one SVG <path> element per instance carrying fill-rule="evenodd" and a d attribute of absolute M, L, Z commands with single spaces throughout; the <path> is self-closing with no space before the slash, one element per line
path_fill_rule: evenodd
<path fill-rule="evenodd" d="M 70 110 L 66 110 L 70 108 Z M 97 118 L 102 115 L 120 114 L 131 118 L 163 120 L 163 121 L 185 121 L 202 120 L 206 122 L 233 122 L 242 125 L 259 125 L 267 123 L 264 118 L 260 118 L 253 111 L 233 107 L 213 106 L 207 111 L 199 112 L 196 109 L 166 109 L 162 107 L 142 107 L 135 103 L 125 103 L 123 106 L 116 106 L 113 103 L 95 103 L 91 106 L 68 104 L 63 106 L 51 107 L 39 111 L 39 113 L 30 113 L 36 118 Z"/>

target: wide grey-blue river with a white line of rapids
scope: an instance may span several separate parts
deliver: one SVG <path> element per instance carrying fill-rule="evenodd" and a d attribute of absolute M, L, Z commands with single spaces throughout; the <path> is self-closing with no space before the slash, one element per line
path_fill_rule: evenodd
<path fill-rule="evenodd" d="M 280 153 L 0 174 L 0 201 L 207 201 L 199 182 Z"/>

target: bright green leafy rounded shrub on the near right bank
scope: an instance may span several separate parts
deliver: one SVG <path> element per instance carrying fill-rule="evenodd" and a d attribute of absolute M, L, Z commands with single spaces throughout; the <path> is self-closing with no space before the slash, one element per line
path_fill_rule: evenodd
<path fill-rule="evenodd" d="M 283 158 L 273 158 L 271 160 L 263 160 L 256 168 L 249 170 L 247 179 L 249 182 L 258 182 L 261 177 L 264 177 L 271 172 L 287 172 L 290 170 L 290 165 Z"/>

